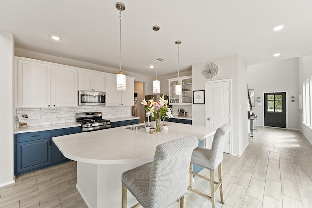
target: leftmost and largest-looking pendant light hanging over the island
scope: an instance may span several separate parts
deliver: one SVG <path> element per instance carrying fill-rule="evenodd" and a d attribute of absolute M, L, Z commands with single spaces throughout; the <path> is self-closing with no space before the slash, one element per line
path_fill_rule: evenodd
<path fill-rule="evenodd" d="M 116 3 L 116 8 L 119 10 L 119 19 L 120 19 L 120 32 L 119 32 L 119 57 L 120 57 L 120 71 L 116 75 L 116 90 L 126 90 L 126 76 L 122 74 L 121 71 L 121 11 L 126 9 L 126 6 L 121 3 Z"/>

